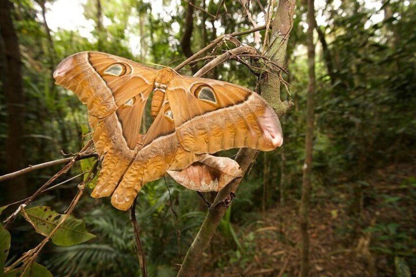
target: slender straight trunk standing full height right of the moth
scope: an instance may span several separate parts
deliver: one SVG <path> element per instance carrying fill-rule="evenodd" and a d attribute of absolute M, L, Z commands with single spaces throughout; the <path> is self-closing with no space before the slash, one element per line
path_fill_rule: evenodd
<path fill-rule="evenodd" d="M 313 44 L 313 28 L 315 25 L 314 0 L 308 0 L 308 100 L 307 100 L 307 130 L 305 140 L 305 164 L 302 176 L 302 199 L 300 203 L 300 231 L 301 243 L 301 269 L 300 276 L 307 277 L 309 274 L 309 234 L 308 234 L 308 212 L 311 195 L 312 175 L 312 151 L 313 151 L 313 108 L 315 93 L 315 45 Z"/>

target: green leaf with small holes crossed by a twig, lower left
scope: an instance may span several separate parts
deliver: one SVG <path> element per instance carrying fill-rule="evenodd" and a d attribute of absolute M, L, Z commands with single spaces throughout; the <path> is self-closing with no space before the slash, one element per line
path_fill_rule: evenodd
<path fill-rule="evenodd" d="M 64 216 L 47 206 L 27 209 L 26 215 L 28 218 L 26 218 L 24 213 L 23 215 L 36 231 L 44 236 L 49 235 Z M 85 229 L 84 222 L 70 215 L 52 235 L 52 242 L 57 246 L 71 246 L 83 243 L 92 238 L 95 238 L 95 235 Z"/>

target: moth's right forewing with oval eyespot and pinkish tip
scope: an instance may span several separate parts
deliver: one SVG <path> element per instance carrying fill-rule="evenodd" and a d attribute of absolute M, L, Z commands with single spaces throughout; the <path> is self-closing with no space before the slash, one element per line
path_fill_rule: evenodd
<path fill-rule="evenodd" d="M 242 147 L 270 151 L 283 143 L 276 113 L 253 91 L 222 81 L 175 76 L 166 94 L 185 150 L 197 154 Z"/>

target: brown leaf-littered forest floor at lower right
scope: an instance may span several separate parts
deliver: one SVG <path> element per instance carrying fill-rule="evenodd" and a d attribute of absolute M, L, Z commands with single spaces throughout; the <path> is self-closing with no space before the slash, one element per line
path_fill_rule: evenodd
<path fill-rule="evenodd" d="M 363 184 L 359 221 L 353 220 L 345 204 L 351 184 L 314 191 L 309 215 L 310 276 L 394 276 L 395 256 L 404 257 L 415 274 L 416 165 L 376 170 Z M 254 234 L 252 258 L 231 261 L 204 276 L 297 276 L 297 213 L 295 201 L 268 209 L 261 226 L 239 230 L 240 241 Z M 221 254 L 208 256 L 204 271 L 212 272 Z"/>

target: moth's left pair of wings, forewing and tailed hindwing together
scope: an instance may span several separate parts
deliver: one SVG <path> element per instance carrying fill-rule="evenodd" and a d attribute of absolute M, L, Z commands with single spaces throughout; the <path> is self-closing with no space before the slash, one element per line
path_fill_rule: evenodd
<path fill-rule="evenodd" d="M 80 52 L 63 60 L 53 77 L 87 105 L 93 141 L 104 157 L 93 197 L 109 196 L 130 165 L 142 113 L 156 70 L 101 52 Z"/>

